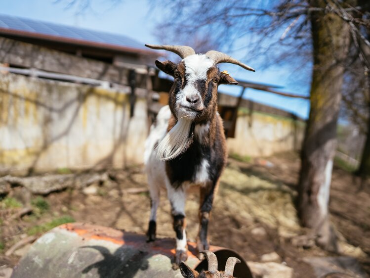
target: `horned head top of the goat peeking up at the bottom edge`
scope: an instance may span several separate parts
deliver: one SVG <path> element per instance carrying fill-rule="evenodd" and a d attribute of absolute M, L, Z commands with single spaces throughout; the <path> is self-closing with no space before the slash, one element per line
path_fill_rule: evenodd
<path fill-rule="evenodd" d="M 188 267 L 185 263 L 180 263 L 181 275 L 184 278 L 234 278 L 234 267 L 240 260 L 235 257 L 230 257 L 226 261 L 225 271 L 218 271 L 218 262 L 215 254 L 208 250 L 201 250 L 201 253 L 206 255 L 208 262 L 208 270 L 198 273 Z"/>

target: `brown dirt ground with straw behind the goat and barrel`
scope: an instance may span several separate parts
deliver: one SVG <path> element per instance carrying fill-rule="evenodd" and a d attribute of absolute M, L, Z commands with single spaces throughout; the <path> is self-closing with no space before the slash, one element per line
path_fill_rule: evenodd
<path fill-rule="evenodd" d="M 302 259 L 333 254 L 292 243 L 293 238 L 306 232 L 299 227 L 293 205 L 299 166 L 298 156 L 292 153 L 251 162 L 230 158 L 212 210 L 210 243 L 234 249 L 247 261 L 260 261 L 263 254 L 275 251 L 294 269 L 294 277 L 315 277 L 311 266 Z M 150 201 L 142 168 L 108 173 L 111 180 L 103 184 L 43 197 L 29 196 L 21 186 L 12 188 L 0 202 L 0 266 L 13 267 L 17 263 L 19 256 L 4 254 L 21 238 L 38 236 L 63 222 L 74 220 L 145 233 Z M 370 274 L 370 193 L 357 189 L 351 175 L 335 168 L 329 210 L 343 239 L 342 254 L 357 257 Z M 173 237 L 165 192 L 161 201 L 157 233 Z M 13 217 L 27 203 L 31 203 L 32 213 Z M 189 193 L 186 213 L 188 240 L 194 241 L 198 231 L 196 188 Z"/>

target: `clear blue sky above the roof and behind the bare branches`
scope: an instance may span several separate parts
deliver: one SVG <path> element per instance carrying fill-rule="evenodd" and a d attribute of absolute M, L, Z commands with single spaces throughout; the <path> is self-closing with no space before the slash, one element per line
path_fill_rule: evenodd
<path fill-rule="evenodd" d="M 156 22 L 165 18 L 164 12 L 152 8 L 147 0 L 91 0 L 91 6 L 83 13 L 78 13 L 77 7 L 67 8 L 70 0 L 0 0 L 0 13 L 48 21 L 58 24 L 72 25 L 82 28 L 117 33 L 131 37 L 143 44 L 160 43 L 153 35 Z M 242 58 L 233 53 L 235 58 Z M 247 61 L 256 69 L 255 73 L 246 71 L 236 65 L 222 64 L 221 70 L 226 69 L 236 79 L 254 81 L 284 87 L 284 92 L 308 95 L 309 79 L 303 77 L 303 82 L 295 82 L 292 69 L 288 65 L 279 68 L 270 67 L 259 70 L 263 65 Z M 220 86 L 220 91 L 238 94 L 236 86 Z M 309 101 L 300 98 L 278 96 L 247 89 L 245 97 L 256 102 L 271 105 L 293 112 L 302 118 L 307 118 Z"/>

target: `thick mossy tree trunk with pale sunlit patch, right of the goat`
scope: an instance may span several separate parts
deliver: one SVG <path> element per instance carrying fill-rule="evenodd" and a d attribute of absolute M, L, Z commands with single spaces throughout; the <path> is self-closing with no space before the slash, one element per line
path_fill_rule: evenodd
<path fill-rule="evenodd" d="M 311 0 L 311 6 L 331 5 L 331 1 Z M 304 227 L 317 234 L 317 244 L 337 250 L 328 218 L 329 189 L 336 148 L 336 127 L 343 82 L 343 60 L 348 53 L 350 33 L 335 13 L 311 14 L 314 67 L 311 108 L 301 152 L 298 184 L 298 216 Z"/>

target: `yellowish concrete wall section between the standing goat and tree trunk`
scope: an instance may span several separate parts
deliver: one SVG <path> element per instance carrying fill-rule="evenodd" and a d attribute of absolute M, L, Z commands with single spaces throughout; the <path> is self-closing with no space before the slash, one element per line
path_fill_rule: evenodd
<path fill-rule="evenodd" d="M 304 123 L 287 117 L 239 111 L 235 138 L 227 139 L 229 153 L 242 156 L 269 156 L 298 150 Z"/>

